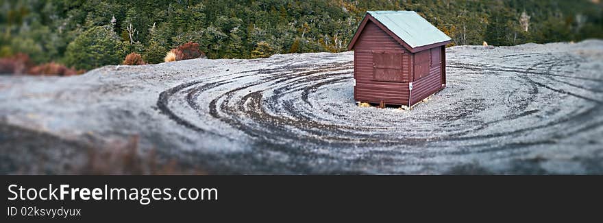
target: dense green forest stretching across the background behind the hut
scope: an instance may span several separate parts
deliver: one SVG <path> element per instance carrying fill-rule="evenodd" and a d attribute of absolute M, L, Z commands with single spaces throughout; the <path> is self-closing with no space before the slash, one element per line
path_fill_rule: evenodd
<path fill-rule="evenodd" d="M 169 49 L 188 42 L 199 43 L 208 58 L 345 51 L 367 10 L 414 10 L 450 36 L 452 45 L 603 38 L 603 5 L 593 1 L 5 0 L 0 5 L 1 55 L 24 52 L 36 63 L 66 61 L 87 69 L 118 64 L 125 52 L 162 62 Z M 529 19 L 521 21 L 523 12 Z M 106 27 L 112 37 L 84 41 L 90 30 L 99 32 L 97 27 Z"/>

